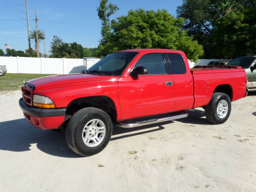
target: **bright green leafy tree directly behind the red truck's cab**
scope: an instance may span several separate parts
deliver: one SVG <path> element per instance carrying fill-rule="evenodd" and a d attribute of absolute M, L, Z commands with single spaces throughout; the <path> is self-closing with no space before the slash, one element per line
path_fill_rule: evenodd
<path fill-rule="evenodd" d="M 175 18 L 166 10 L 130 10 L 127 16 L 112 20 L 108 44 L 100 44 L 102 53 L 125 49 L 164 48 L 178 49 L 188 59 L 197 61 L 203 54 L 202 46 L 181 30 L 184 19 Z"/>

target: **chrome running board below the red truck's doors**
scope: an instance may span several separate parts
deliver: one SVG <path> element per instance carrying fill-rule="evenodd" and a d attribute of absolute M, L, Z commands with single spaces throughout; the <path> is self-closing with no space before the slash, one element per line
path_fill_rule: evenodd
<path fill-rule="evenodd" d="M 187 116 L 188 116 L 188 112 L 184 111 L 184 112 L 181 112 L 180 114 L 162 117 L 162 118 L 154 118 L 154 119 L 142 120 L 142 121 L 136 121 L 136 122 L 127 122 L 127 121 L 116 122 L 116 125 L 122 128 L 134 128 L 134 127 L 143 126 L 143 125 L 150 125 L 154 123 L 160 123 L 160 122 L 185 118 Z"/>

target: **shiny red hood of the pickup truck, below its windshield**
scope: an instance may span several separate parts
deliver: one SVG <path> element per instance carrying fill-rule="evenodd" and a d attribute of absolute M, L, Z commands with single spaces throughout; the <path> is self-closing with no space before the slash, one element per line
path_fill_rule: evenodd
<path fill-rule="evenodd" d="M 100 81 L 100 80 L 110 80 L 119 79 L 119 76 L 105 76 L 105 75 L 94 75 L 94 74 L 67 74 L 67 75 L 54 75 L 36 78 L 28 81 L 35 86 L 35 89 L 56 86 L 61 84 L 69 84 L 76 82 L 87 82 L 87 81 Z"/>

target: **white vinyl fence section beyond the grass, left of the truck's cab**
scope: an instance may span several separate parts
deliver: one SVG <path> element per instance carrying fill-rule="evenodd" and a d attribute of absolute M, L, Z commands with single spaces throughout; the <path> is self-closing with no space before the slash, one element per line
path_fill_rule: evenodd
<path fill-rule="evenodd" d="M 69 74 L 85 69 L 83 59 L 0 57 L 8 73 Z"/>

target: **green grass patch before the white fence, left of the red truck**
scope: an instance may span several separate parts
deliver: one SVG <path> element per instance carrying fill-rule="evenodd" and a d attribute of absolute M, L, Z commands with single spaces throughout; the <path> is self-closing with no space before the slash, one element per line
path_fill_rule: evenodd
<path fill-rule="evenodd" d="M 7 69 L 8 70 L 8 69 Z M 0 92 L 20 90 L 23 81 L 32 80 L 39 77 L 50 76 L 53 74 L 25 74 L 25 73 L 6 73 L 0 76 Z"/>

